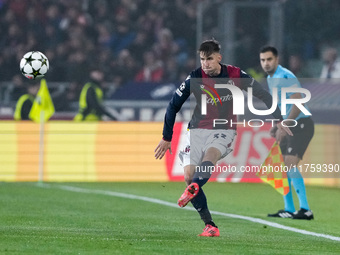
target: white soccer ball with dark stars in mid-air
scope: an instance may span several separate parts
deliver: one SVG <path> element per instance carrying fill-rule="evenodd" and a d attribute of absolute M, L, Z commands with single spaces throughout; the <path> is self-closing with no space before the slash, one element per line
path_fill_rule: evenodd
<path fill-rule="evenodd" d="M 47 57 L 39 51 L 27 52 L 20 61 L 20 71 L 31 80 L 44 77 L 49 67 Z"/>

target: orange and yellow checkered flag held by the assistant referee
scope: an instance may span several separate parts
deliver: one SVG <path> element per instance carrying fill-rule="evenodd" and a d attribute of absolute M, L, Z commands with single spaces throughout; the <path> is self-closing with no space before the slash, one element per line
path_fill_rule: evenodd
<path fill-rule="evenodd" d="M 289 184 L 284 166 L 280 146 L 275 142 L 267 158 L 261 165 L 260 171 L 257 172 L 256 175 L 259 176 L 262 181 L 271 185 L 281 195 L 287 195 L 289 192 Z"/>

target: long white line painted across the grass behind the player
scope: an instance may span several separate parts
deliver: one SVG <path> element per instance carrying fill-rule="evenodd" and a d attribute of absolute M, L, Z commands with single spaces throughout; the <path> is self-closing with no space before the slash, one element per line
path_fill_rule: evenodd
<path fill-rule="evenodd" d="M 174 207 L 174 208 L 178 208 L 178 209 L 182 209 L 182 210 L 185 209 L 185 210 L 196 211 L 192 207 L 179 208 L 178 205 L 175 204 L 175 203 L 167 202 L 167 201 L 160 200 L 160 199 L 157 199 L 157 198 L 144 197 L 144 196 L 115 192 L 115 191 L 92 190 L 92 189 L 84 189 L 84 188 L 78 188 L 78 187 L 73 187 L 73 186 L 50 185 L 50 184 L 44 184 L 44 183 L 43 184 L 37 184 L 37 186 L 43 187 L 43 188 L 57 187 L 57 188 L 62 189 L 62 190 L 68 190 L 68 191 L 78 192 L 78 193 L 101 194 L 101 195 L 107 195 L 107 196 L 113 196 L 113 197 L 136 199 L 136 200 L 146 201 L 146 202 L 150 202 L 150 203 L 154 203 L 154 204 L 166 205 L 166 206 L 169 206 L 169 207 Z M 330 239 L 330 240 L 333 240 L 333 241 L 339 241 L 340 242 L 340 237 L 337 237 L 337 236 L 319 234 L 319 233 L 316 233 L 316 232 L 311 232 L 311 231 L 307 231 L 307 230 L 303 230 L 303 229 L 287 227 L 287 226 L 281 225 L 279 223 L 274 223 L 274 222 L 271 222 L 271 221 L 266 221 L 266 220 L 248 217 L 248 216 L 242 216 L 242 215 L 231 214 L 231 213 L 223 213 L 223 212 L 217 212 L 217 211 L 210 211 L 210 212 L 211 212 L 211 214 L 215 214 L 215 215 L 225 216 L 225 217 L 234 218 L 234 219 L 247 220 L 247 221 L 251 221 L 251 222 L 255 222 L 255 223 L 265 224 L 267 226 L 271 226 L 271 227 L 274 227 L 274 228 L 279 228 L 279 229 L 292 231 L 292 232 L 295 232 L 295 233 L 300 233 L 300 234 L 303 234 L 303 235 L 322 237 L 322 238 L 326 238 L 326 239 Z"/>

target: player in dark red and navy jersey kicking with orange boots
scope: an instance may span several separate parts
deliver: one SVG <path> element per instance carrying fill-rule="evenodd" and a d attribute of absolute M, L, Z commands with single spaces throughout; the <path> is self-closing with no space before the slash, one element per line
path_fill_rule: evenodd
<path fill-rule="evenodd" d="M 236 126 L 231 123 L 237 121 L 233 115 L 233 96 L 228 89 L 216 89 L 219 101 L 217 105 L 202 104 L 202 94 L 211 94 L 214 84 L 228 83 L 240 89 L 253 89 L 254 96 L 261 99 L 267 107 L 272 105 L 271 95 L 252 77 L 240 68 L 221 64 L 220 44 L 216 40 L 204 41 L 198 50 L 201 66 L 192 71 L 187 79 L 174 93 L 166 110 L 163 127 L 163 139 L 155 149 L 155 158 L 162 159 L 166 151 L 171 153 L 171 139 L 177 112 L 190 94 L 196 98 L 196 107 L 188 124 L 187 145 L 181 151 L 184 166 L 184 178 L 187 187 L 178 200 L 180 207 L 185 207 L 190 201 L 205 223 L 200 236 L 219 236 L 219 229 L 212 220 L 207 206 L 207 199 L 202 186 L 209 180 L 211 169 L 218 160 L 227 156 L 231 151 L 231 144 L 236 135 Z M 215 89 L 214 89 L 215 90 Z M 209 92 L 209 93 L 207 93 Z M 207 107 L 207 113 L 202 114 L 202 107 Z M 278 107 L 273 116 L 282 120 Z M 229 120 L 227 124 L 214 127 L 214 119 Z M 278 124 L 278 129 L 291 134 L 289 128 Z"/>

